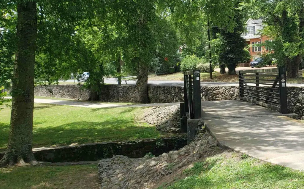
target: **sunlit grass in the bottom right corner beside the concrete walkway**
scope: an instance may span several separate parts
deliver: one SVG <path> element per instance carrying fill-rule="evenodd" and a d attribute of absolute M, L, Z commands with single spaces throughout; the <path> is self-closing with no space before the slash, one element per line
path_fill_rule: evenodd
<path fill-rule="evenodd" d="M 180 180 L 159 189 L 264 189 L 304 188 L 304 172 L 224 152 L 197 162 Z"/>

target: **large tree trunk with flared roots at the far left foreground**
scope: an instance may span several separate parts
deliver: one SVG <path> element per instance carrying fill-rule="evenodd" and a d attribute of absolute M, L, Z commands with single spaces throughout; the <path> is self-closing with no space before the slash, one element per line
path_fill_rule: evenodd
<path fill-rule="evenodd" d="M 36 2 L 17 4 L 17 52 L 12 79 L 12 114 L 7 151 L 0 166 L 37 164 L 33 142 Z"/>

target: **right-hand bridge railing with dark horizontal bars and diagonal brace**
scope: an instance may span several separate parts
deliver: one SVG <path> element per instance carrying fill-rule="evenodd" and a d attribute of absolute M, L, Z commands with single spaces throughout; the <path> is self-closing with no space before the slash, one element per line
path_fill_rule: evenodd
<path fill-rule="evenodd" d="M 239 71 L 240 100 L 287 113 L 285 67 Z"/>

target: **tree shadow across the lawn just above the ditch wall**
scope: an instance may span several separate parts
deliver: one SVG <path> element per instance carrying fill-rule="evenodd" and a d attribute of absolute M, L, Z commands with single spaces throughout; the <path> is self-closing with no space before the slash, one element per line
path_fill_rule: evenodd
<path fill-rule="evenodd" d="M 155 127 L 135 124 L 134 121 L 116 119 L 102 122 L 77 121 L 47 128 L 33 129 L 33 146 L 84 144 L 103 141 L 124 141 L 160 137 Z"/>

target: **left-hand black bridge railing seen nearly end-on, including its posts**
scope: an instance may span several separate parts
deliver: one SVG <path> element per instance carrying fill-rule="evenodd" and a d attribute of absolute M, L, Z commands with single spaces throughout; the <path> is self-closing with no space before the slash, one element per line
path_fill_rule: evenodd
<path fill-rule="evenodd" d="M 184 102 L 181 108 L 181 132 L 187 132 L 187 119 L 202 117 L 200 70 L 184 72 Z"/>

